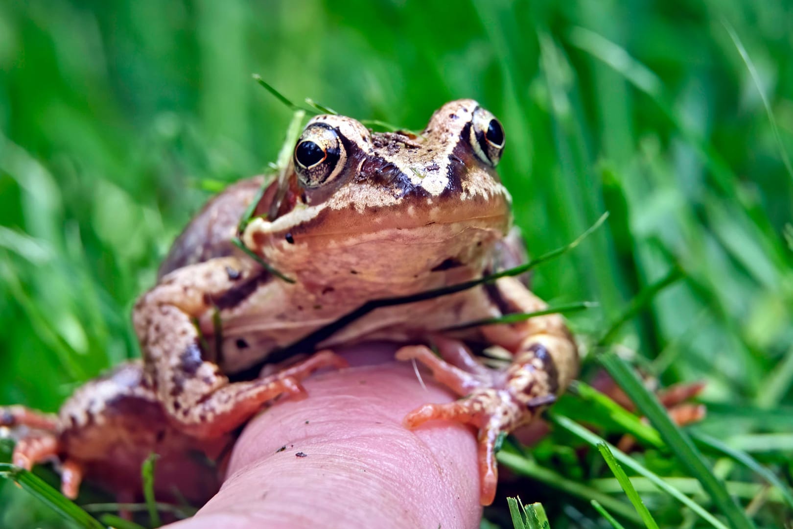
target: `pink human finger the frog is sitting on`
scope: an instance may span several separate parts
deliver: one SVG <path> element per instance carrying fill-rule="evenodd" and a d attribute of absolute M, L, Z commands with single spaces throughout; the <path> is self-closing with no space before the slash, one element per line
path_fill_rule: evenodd
<path fill-rule="evenodd" d="M 305 381 L 243 431 L 220 492 L 174 529 L 217 527 L 479 527 L 473 430 L 405 414 L 455 396 L 393 348 L 358 347 L 351 367 Z M 297 454 L 305 454 L 299 456 Z"/>

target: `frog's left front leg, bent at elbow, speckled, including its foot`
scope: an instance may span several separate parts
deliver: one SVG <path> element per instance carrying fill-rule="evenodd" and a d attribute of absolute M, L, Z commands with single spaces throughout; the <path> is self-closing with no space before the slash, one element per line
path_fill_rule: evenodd
<path fill-rule="evenodd" d="M 347 365 L 331 351 L 320 351 L 277 374 L 229 383 L 219 366 L 202 358 L 194 321 L 271 281 L 279 280 L 249 259 L 210 259 L 168 274 L 136 304 L 133 322 L 147 372 L 180 430 L 200 438 L 222 435 L 262 404 L 303 394 L 300 382 L 312 372 Z"/>

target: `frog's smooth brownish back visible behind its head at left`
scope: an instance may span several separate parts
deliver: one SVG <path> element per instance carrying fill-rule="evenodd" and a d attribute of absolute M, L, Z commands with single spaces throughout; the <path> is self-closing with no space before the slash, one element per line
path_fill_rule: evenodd
<path fill-rule="evenodd" d="M 241 254 L 232 240 L 237 235 L 239 219 L 264 182 L 265 177 L 261 175 L 247 178 L 228 186 L 207 202 L 174 241 L 157 277 L 216 257 Z"/>

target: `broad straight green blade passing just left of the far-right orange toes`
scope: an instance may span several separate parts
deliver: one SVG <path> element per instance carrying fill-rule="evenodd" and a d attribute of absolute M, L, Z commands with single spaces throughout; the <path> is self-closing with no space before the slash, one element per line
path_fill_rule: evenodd
<path fill-rule="evenodd" d="M 672 423 L 665 408 L 657 401 L 653 393 L 645 388 L 634 370 L 611 351 L 600 354 L 598 359 L 628 398 L 636 404 L 638 410 L 661 434 L 661 438 L 664 439 L 672 454 L 675 454 L 693 477 L 699 479 L 705 492 L 711 496 L 714 505 L 730 521 L 730 525 L 736 529 L 754 527 L 752 520 L 730 497 L 722 481 L 711 471 L 688 435 L 685 435 L 680 427 Z"/>

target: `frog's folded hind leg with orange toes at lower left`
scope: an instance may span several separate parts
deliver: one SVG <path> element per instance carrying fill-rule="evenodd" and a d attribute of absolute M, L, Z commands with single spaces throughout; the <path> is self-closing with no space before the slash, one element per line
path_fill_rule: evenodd
<path fill-rule="evenodd" d="M 191 503 L 205 502 L 220 486 L 222 462 L 213 459 L 232 442 L 230 435 L 196 439 L 171 427 L 140 362 L 122 364 L 83 385 L 56 416 L 10 406 L 0 424 L 17 437 L 14 464 L 30 468 L 56 458 L 66 496 L 77 496 L 85 474 L 121 502 L 141 499 L 140 466 L 151 453 L 159 454 L 159 500 L 178 502 L 175 485 Z"/>

